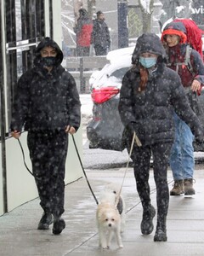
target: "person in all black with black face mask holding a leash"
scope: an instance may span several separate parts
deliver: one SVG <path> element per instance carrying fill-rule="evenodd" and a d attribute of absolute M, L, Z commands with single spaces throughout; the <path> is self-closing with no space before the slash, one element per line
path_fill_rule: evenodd
<path fill-rule="evenodd" d="M 68 134 L 74 134 L 81 122 L 81 103 L 76 82 L 60 65 L 63 53 L 51 38 L 37 45 L 34 67 L 24 73 L 17 84 L 11 136 L 18 139 L 28 131 L 32 173 L 43 210 L 38 230 L 53 233 L 65 229 L 61 215 L 65 211 L 65 160 Z"/>

